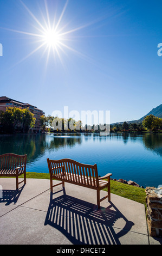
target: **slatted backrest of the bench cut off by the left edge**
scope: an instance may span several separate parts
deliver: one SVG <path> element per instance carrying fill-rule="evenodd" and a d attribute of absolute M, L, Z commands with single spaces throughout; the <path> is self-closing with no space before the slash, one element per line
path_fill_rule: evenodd
<path fill-rule="evenodd" d="M 27 155 L 21 156 L 12 153 L 0 155 L 0 170 L 14 170 L 26 163 Z"/>

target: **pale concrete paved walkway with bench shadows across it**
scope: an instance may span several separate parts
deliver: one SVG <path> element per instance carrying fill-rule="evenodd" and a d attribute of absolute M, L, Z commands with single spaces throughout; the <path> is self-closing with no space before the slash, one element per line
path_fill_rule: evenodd
<path fill-rule="evenodd" d="M 57 181 L 55 181 L 57 182 Z M 65 183 L 50 193 L 49 180 L 0 179 L 0 244 L 152 245 L 144 205 L 112 194 L 96 210 L 96 191 Z M 105 196 L 101 191 L 100 197 Z"/>

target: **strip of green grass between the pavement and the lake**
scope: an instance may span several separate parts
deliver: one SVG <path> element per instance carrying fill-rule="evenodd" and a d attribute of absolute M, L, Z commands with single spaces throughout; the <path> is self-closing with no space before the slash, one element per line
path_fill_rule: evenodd
<path fill-rule="evenodd" d="M 21 177 L 21 176 L 20 176 Z M 50 179 L 49 173 L 30 173 L 27 172 L 27 179 Z M 105 189 L 106 190 L 106 189 Z M 135 187 L 132 185 L 122 184 L 118 181 L 111 180 L 111 192 L 118 196 L 125 197 L 141 204 L 146 207 L 146 193 L 145 189 L 141 187 Z"/>

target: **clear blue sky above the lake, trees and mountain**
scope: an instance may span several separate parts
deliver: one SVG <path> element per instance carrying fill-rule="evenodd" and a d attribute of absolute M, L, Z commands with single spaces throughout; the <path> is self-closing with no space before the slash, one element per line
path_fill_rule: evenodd
<path fill-rule="evenodd" d="M 68 106 L 109 110 L 111 123 L 141 118 L 162 103 L 161 9 L 161 0 L 1 0 L 1 96 L 46 115 Z M 33 34 L 49 20 L 65 46 L 48 56 Z"/>

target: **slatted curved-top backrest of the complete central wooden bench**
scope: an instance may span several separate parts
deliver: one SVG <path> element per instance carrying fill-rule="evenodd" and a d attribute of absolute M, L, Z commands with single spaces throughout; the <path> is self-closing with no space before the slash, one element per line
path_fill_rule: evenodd
<path fill-rule="evenodd" d="M 83 164 L 72 159 L 49 160 L 50 176 L 60 180 L 79 183 L 88 187 L 98 187 L 98 169 L 96 164 Z"/>

